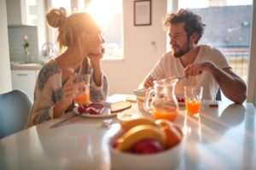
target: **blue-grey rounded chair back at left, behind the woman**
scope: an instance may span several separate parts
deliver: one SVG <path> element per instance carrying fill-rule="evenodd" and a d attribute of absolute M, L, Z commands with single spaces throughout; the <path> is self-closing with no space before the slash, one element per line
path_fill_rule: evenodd
<path fill-rule="evenodd" d="M 0 139 L 24 128 L 31 107 L 31 100 L 20 90 L 0 94 Z"/>

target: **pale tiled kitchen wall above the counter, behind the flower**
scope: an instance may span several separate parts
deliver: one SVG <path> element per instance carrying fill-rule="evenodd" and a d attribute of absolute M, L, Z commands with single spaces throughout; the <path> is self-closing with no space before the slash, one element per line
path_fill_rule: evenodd
<path fill-rule="evenodd" d="M 38 29 L 37 26 L 9 26 L 9 55 L 11 62 L 24 61 L 23 36 L 28 36 L 31 62 L 38 61 Z"/>

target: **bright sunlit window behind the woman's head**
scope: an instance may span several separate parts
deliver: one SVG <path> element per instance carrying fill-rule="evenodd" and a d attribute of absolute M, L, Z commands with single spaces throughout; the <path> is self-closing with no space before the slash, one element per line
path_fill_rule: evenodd
<path fill-rule="evenodd" d="M 101 26 L 105 39 L 103 59 L 123 59 L 122 0 L 51 0 L 49 7 L 64 7 L 67 9 L 67 14 L 76 11 L 90 13 L 95 18 L 97 24 Z M 51 42 L 56 42 L 56 34 L 56 31 L 49 31 Z"/>

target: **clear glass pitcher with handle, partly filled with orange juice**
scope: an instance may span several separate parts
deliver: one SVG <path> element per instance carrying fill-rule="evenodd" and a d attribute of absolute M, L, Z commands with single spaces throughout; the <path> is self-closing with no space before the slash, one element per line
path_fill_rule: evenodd
<path fill-rule="evenodd" d="M 154 119 L 174 121 L 178 113 L 177 99 L 174 94 L 177 78 L 154 81 L 154 87 L 146 94 L 144 109 L 152 114 Z"/>

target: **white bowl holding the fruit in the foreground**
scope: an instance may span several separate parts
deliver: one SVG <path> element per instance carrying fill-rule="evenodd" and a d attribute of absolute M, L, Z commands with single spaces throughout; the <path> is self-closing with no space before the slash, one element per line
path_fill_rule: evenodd
<path fill-rule="evenodd" d="M 117 133 L 115 133 L 108 141 L 111 167 L 113 169 L 169 170 L 177 167 L 182 160 L 184 136 L 178 144 L 172 146 L 170 149 L 161 150 L 160 152 L 153 154 L 141 155 L 119 151 L 114 148 L 116 140 L 124 133 L 124 129 L 120 127 Z"/>

